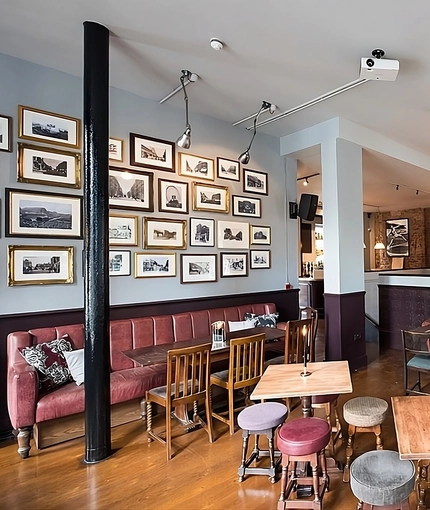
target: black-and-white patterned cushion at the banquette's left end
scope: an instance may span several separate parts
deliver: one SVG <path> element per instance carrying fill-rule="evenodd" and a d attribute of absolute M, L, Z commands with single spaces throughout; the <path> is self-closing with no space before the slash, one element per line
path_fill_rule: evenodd
<path fill-rule="evenodd" d="M 68 336 L 19 349 L 23 358 L 39 373 L 39 389 L 50 391 L 72 380 L 64 358 L 64 351 L 71 351 Z"/>

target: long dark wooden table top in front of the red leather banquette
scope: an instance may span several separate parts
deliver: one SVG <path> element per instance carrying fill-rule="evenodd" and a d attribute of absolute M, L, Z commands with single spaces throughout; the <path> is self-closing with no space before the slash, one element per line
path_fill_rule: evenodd
<path fill-rule="evenodd" d="M 250 328 L 240 331 L 227 333 L 227 340 L 223 347 L 212 348 L 211 357 L 214 361 L 221 359 L 228 359 L 230 352 L 230 340 L 234 338 L 243 338 L 245 336 L 258 335 L 264 333 L 266 336 L 266 348 L 274 348 L 277 342 L 275 340 L 285 338 L 285 330 L 278 328 Z M 167 351 L 170 349 L 178 349 L 182 347 L 192 347 L 195 345 L 206 344 L 212 342 L 211 336 L 206 338 L 199 338 L 193 340 L 185 340 L 183 342 L 174 342 L 169 344 L 151 345 L 149 347 L 139 347 L 138 349 L 130 349 L 123 351 L 128 358 L 131 358 L 139 365 L 144 367 L 151 365 L 159 365 L 166 363 Z M 279 347 L 282 353 L 284 352 L 284 343 L 279 342 Z M 278 350 L 278 349 L 276 349 Z"/>

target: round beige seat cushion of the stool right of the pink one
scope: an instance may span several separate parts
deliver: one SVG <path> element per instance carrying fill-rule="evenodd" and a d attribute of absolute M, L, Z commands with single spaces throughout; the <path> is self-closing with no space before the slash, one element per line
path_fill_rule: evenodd
<path fill-rule="evenodd" d="M 384 421 L 387 410 L 388 404 L 382 398 L 357 397 L 344 404 L 343 417 L 355 427 L 374 427 Z"/>

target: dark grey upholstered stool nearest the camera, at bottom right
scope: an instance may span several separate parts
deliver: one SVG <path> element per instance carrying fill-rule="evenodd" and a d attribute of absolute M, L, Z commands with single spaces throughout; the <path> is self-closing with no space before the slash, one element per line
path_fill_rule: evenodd
<path fill-rule="evenodd" d="M 359 500 L 357 510 L 409 510 L 415 466 L 400 460 L 397 452 L 373 450 L 351 464 L 351 490 Z"/>

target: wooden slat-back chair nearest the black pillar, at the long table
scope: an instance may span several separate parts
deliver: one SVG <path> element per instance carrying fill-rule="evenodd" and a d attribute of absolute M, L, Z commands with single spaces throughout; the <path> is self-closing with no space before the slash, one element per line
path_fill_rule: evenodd
<path fill-rule="evenodd" d="M 148 441 L 153 439 L 167 446 L 167 460 L 172 458 L 172 411 L 176 406 L 193 404 L 193 422 L 199 423 L 213 442 L 210 399 L 210 353 L 212 344 L 172 349 L 167 352 L 167 384 L 146 392 Z M 198 415 L 198 401 L 204 400 L 207 424 Z M 152 430 L 152 403 L 166 409 L 165 439 Z"/>

